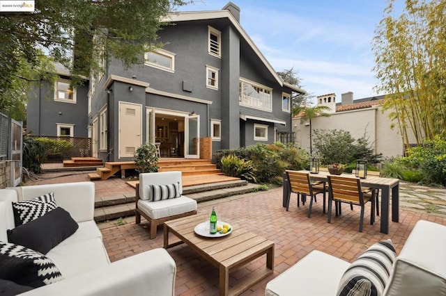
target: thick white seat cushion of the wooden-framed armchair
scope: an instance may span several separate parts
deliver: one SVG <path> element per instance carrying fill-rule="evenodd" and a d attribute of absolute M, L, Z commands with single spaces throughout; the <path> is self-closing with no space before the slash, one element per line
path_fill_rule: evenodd
<path fill-rule="evenodd" d="M 138 200 L 138 208 L 150 217 L 157 220 L 164 217 L 197 211 L 197 201 L 184 195 L 174 199 L 164 199 L 159 202 Z"/>

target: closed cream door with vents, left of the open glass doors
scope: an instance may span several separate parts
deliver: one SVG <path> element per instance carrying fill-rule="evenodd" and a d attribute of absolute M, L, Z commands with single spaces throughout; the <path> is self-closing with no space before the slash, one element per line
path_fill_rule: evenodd
<path fill-rule="evenodd" d="M 142 105 L 119 102 L 119 154 L 118 158 L 133 157 L 142 144 Z"/>

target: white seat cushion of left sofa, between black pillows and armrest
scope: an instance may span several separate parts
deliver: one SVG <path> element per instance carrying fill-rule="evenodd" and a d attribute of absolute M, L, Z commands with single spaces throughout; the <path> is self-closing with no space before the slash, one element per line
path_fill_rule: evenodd
<path fill-rule="evenodd" d="M 47 253 L 66 279 L 110 263 L 102 238 L 59 244 Z"/>

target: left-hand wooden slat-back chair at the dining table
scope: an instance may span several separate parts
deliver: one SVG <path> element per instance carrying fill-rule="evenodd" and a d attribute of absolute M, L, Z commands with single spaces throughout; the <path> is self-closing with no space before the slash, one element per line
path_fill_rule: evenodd
<path fill-rule="evenodd" d="M 319 193 L 323 194 L 323 213 L 325 213 L 325 192 L 327 191 L 325 182 L 323 181 L 312 181 L 308 172 L 296 172 L 293 170 L 286 170 L 286 179 L 289 182 L 289 196 L 286 201 L 286 211 L 289 209 L 291 192 L 298 194 L 298 207 L 300 206 L 299 202 L 302 198 L 302 204 L 305 204 L 306 196 L 310 197 L 309 208 L 307 217 L 312 217 L 312 207 L 313 200 L 317 202 L 316 195 Z"/>

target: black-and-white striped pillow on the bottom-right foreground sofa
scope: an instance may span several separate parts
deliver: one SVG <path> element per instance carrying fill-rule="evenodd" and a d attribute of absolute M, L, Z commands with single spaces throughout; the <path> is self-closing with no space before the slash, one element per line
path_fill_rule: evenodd
<path fill-rule="evenodd" d="M 392 240 L 376 242 L 344 272 L 336 295 L 382 295 L 396 257 Z"/>

